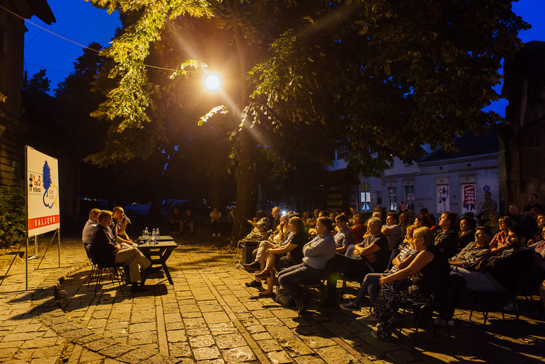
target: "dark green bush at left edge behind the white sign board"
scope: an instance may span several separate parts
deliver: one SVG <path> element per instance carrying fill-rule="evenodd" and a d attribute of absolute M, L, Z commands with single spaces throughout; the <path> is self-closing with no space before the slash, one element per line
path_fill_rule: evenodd
<path fill-rule="evenodd" d="M 15 165 L 12 168 L 12 176 Z M 0 247 L 21 244 L 27 237 L 25 184 L 23 180 L 0 186 Z"/>

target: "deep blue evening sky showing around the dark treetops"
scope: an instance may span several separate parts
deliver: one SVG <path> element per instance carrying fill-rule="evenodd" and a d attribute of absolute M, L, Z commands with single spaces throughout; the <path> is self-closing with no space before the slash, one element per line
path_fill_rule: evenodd
<path fill-rule="evenodd" d="M 107 46 L 113 37 L 115 28 L 120 27 L 117 14 L 109 15 L 102 9 L 94 8 L 84 0 L 47 0 L 57 22 L 46 25 L 38 18 L 30 21 L 53 33 L 62 35 L 81 45 L 99 42 Z M 545 0 L 520 0 L 513 3 L 515 13 L 522 16 L 532 29 L 520 33 L 523 42 L 531 40 L 545 41 Z M 40 69 L 47 70 L 51 81 L 51 89 L 64 80 L 74 69 L 74 61 L 83 54 L 81 46 L 62 40 L 45 30 L 25 23 L 28 32 L 25 34 L 25 71 L 32 76 Z M 497 86 L 498 93 L 501 85 Z M 490 107 L 500 115 L 505 114 L 507 100 L 498 100 Z"/>

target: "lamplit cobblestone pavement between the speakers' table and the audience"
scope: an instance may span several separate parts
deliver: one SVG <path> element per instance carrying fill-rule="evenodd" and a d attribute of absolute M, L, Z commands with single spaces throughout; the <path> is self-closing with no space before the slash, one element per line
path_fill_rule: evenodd
<path fill-rule="evenodd" d="M 198 237 L 197 237 L 198 239 Z M 168 260 L 171 286 L 162 273 L 148 278 L 149 292 L 133 295 L 106 280 L 93 295 L 88 265 L 79 240 L 62 240 L 61 268 L 51 247 L 40 269 L 29 261 L 12 267 L 0 286 L 1 363 L 542 363 L 545 358 L 545 315 L 539 300 L 519 299 L 520 328 L 515 318 L 493 314 L 481 336 L 482 315 L 457 310 L 447 331 L 419 331 L 411 314 L 392 341 L 371 336 L 360 322 L 362 312 L 320 309 L 311 303 L 301 317 L 272 298 L 256 298 L 244 283 L 251 274 L 236 269 L 232 257 L 210 242 L 178 238 Z M 4 277 L 6 269 L 0 271 Z M 59 283 L 60 278 L 60 283 Z M 347 295 L 355 290 L 348 289 Z M 319 296 L 320 297 L 320 296 Z M 403 316 L 403 315 L 400 315 Z M 398 326 L 397 326 L 398 327 Z M 520 338 L 524 331 L 524 339 Z"/>

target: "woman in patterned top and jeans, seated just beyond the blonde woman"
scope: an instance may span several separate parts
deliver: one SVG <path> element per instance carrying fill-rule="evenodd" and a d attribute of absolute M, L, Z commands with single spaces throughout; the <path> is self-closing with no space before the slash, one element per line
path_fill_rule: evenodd
<path fill-rule="evenodd" d="M 386 274 L 394 274 L 400 269 L 405 268 L 413 259 L 418 255 L 418 250 L 415 249 L 413 242 L 413 231 L 415 230 L 415 225 L 409 225 L 407 227 L 407 235 L 403 242 L 407 242 L 401 249 L 401 252 L 396 258 L 394 258 L 393 266 Z M 369 295 L 369 300 L 371 300 L 372 305 L 374 305 L 377 300 L 377 295 L 379 295 L 380 284 L 379 279 L 383 276 L 382 273 L 369 273 L 363 279 L 362 286 L 357 293 L 355 300 L 349 301 L 348 303 L 343 303 L 340 305 L 340 308 L 343 310 L 359 311 L 362 306 L 362 301 L 365 298 L 365 295 Z"/>

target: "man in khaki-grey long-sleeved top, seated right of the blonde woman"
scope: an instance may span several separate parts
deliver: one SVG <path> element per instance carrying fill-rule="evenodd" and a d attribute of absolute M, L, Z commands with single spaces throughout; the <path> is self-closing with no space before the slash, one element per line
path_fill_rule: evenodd
<path fill-rule="evenodd" d="M 479 264 L 488 259 L 492 254 L 488 243 L 490 242 L 490 228 L 478 226 L 475 233 L 475 241 L 470 242 L 461 252 L 449 260 L 451 266 L 460 266 L 468 271 L 474 271 Z"/>

